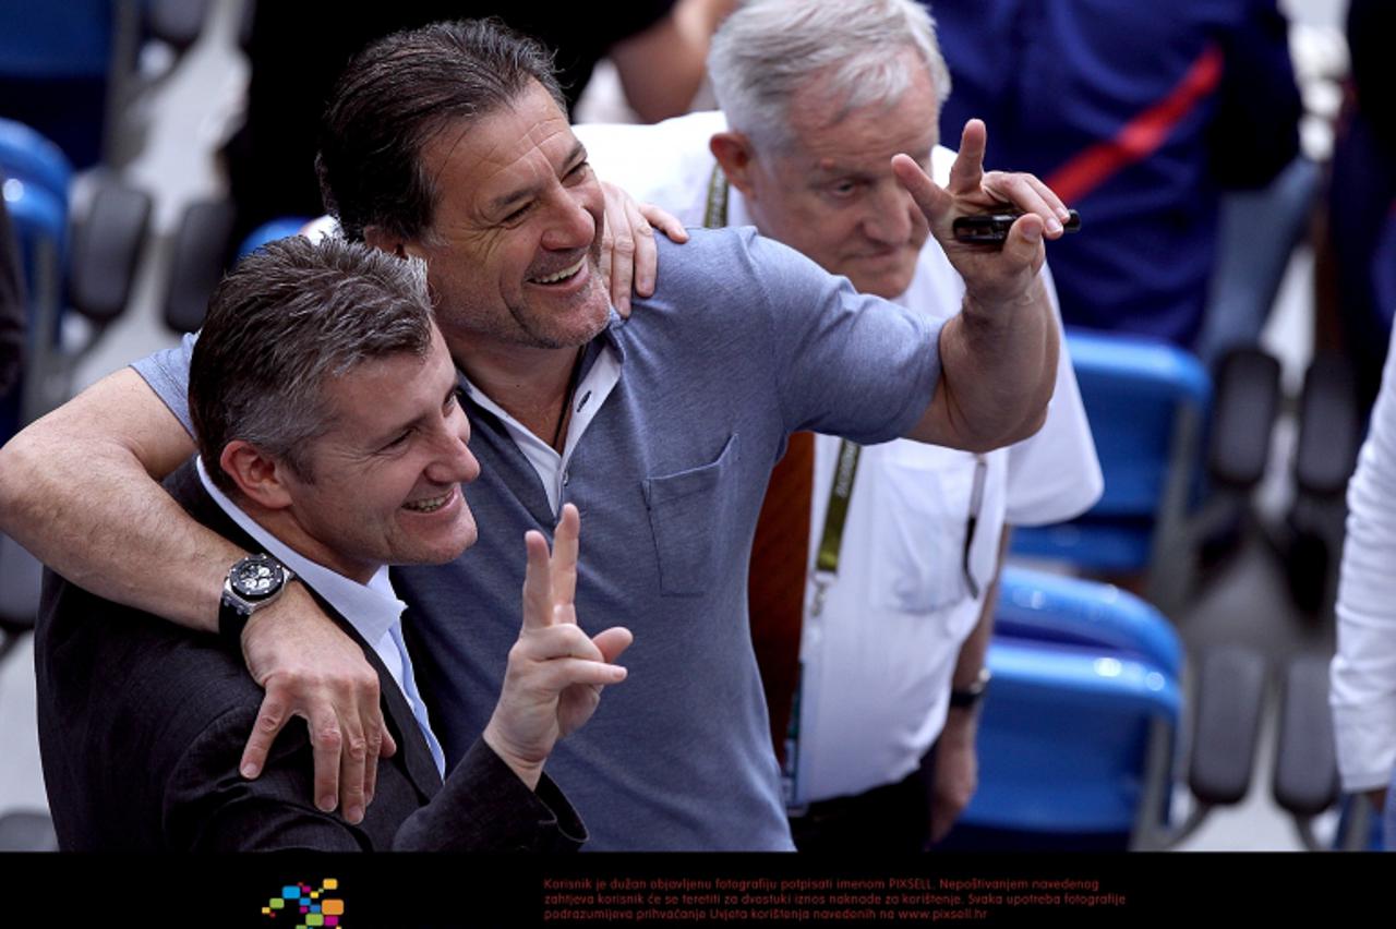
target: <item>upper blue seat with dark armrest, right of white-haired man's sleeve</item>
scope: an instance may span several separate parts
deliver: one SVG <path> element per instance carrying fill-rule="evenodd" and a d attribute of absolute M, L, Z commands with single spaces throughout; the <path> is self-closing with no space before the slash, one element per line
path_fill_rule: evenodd
<path fill-rule="evenodd" d="M 1149 601 L 1175 611 L 1192 590 L 1201 543 L 1244 508 L 1265 471 L 1279 363 L 1231 350 L 1215 386 L 1194 356 L 1163 342 L 1068 328 L 1067 345 L 1104 494 L 1071 522 L 1015 529 L 1013 552 L 1143 576 Z"/>

